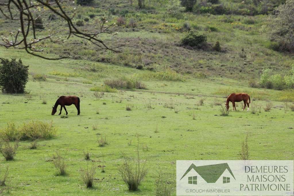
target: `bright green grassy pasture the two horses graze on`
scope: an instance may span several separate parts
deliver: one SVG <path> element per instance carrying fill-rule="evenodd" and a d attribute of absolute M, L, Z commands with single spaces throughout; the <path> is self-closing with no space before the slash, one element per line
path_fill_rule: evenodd
<path fill-rule="evenodd" d="M 176 160 L 238 160 L 247 133 L 250 159 L 294 158 L 290 129 L 294 128 L 294 112 L 277 101 L 283 93 L 293 95 L 293 91 L 249 88 L 233 79 L 195 79 L 189 75 L 181 76 L 182 81 L 156 80 L 146 77 L 149 71 L 129 67 L 86 60 L 47 61 L 4 48 L 0 48 L 0 53 L 21 58 L 30 66 L 28 94 L 0 94 L 0 129 L 6 123 L 22 125 L 37 119 L 52 121 L 58 130 L 56 137 L 40 140 L 35 150 L 28 148 L 31 141 L 21 141 L 14 160 L 1 158 L 1 169 L 6 165 L 10 168 L 11 188 L 4 194 L 154 195 L 159 170 L 173 174 Z M 98 71 L 87 71 L 85 67 L 89 66 Z M 34 81 L 35 74 L 47 78 Z M 106 78 L 120 76 L 142 78 L 147 89 L 118 90 L 101 98 L 90 91 L 92 87 L 101 87 Z M 237 111 L 220 116 L 218 103 L 223 105 L 230 91 L 250 92 L 250 106 L 255 105 L 257 112 L 241 111 L 242 104 L 238 103 Z M 51 107 L 61 95 L 80 97 L 80 116 L 73 105 L 67 107 L 68 118 L 51 115 Z M 203 105 L 199 103 L 201 98 L 206 98 Z M 44 100 L 46 104 L 42 104 Z M 273 108 L 265 112 L 263 108 L 270 102 Z M 127 105 L 131 111 L 126 110 Z M 106 137 L 108 145 L 99 147 L 100 137 Z M 122 153 L 136 158 L 138 143 L 141 159 L 147 160 L 148 174 L 139 190 L 130 192 L 118 169 L 123 164 Z M 83 158 L 83 151 L 87 150 L 93 154 L 90 163 L 97 168 L 91 189 L 85 187 L 79 172 L 87 166 Z M 66 153 L 65 176 L 57 175 L 52 164 L 55 151 Z M 101 172 L 101 165 L 105 165 L 105 173 Z"/>

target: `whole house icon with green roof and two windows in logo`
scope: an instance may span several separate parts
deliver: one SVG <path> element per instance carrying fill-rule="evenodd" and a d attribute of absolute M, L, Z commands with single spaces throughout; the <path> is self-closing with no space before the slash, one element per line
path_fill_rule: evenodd
<path fill-rule="evenodd" d="M 228 163 L 203 166 L 196 166 L 192 163 L 180 180 L 183 178 L 188 180 L 188 184 L 194 185 L 202 183 L 225 184 L 230 183 L 232 178 L 236 180 Z"/>

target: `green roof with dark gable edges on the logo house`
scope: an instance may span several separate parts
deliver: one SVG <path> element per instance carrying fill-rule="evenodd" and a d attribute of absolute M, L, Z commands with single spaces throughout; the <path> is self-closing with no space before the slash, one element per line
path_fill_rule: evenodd
<path fill-rule="evenodd" d="M 233 175 L 233 172 L 231 171 L 228 163 L 203 165 L 198 167 L 192 163 L 188 170 L 184 173 L 183 177 L 185 177 L 185 175 L 188 174 L 192 169 L 194 169 L 208 183 L 216 182 L 226 169 L 235 179 L 235 176 Z M 181 180 L 183 177 L 181 177 Z"/>

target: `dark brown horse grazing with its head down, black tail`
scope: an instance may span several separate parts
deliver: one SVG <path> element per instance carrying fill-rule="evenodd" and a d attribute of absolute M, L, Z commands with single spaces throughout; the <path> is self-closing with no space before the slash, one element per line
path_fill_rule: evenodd
<path fill-rule="evenodd" d="M 78 115 L 80 115 L 80 98 L 76 97 L 76 96 L 60 96 L 54 107 L 52 107 L 52 113 L 51 115 L 54 115 L 57 111 L 57 106 L 60 105 L 60 112 L 58 115 L 61 114 L 61 110 L 62 108 L 64 108 L 65 112 L 66 112 L 66 115 L 68 114 L 67 111 L 66 111 L 66 108 L 65 108 L 65 105 L 72 105 L 74 104 L 76 106 L 76 109 L 78 110 Z"/>

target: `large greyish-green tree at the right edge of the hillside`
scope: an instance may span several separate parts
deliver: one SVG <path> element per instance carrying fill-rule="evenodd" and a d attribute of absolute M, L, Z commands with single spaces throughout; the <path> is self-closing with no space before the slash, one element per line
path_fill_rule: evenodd
<path fill-rule="evenodd" d="M 278 6 L 270 16 L 270 39 L 280 45 L 280 50 L 294 49 L 294 0 Z"/>

